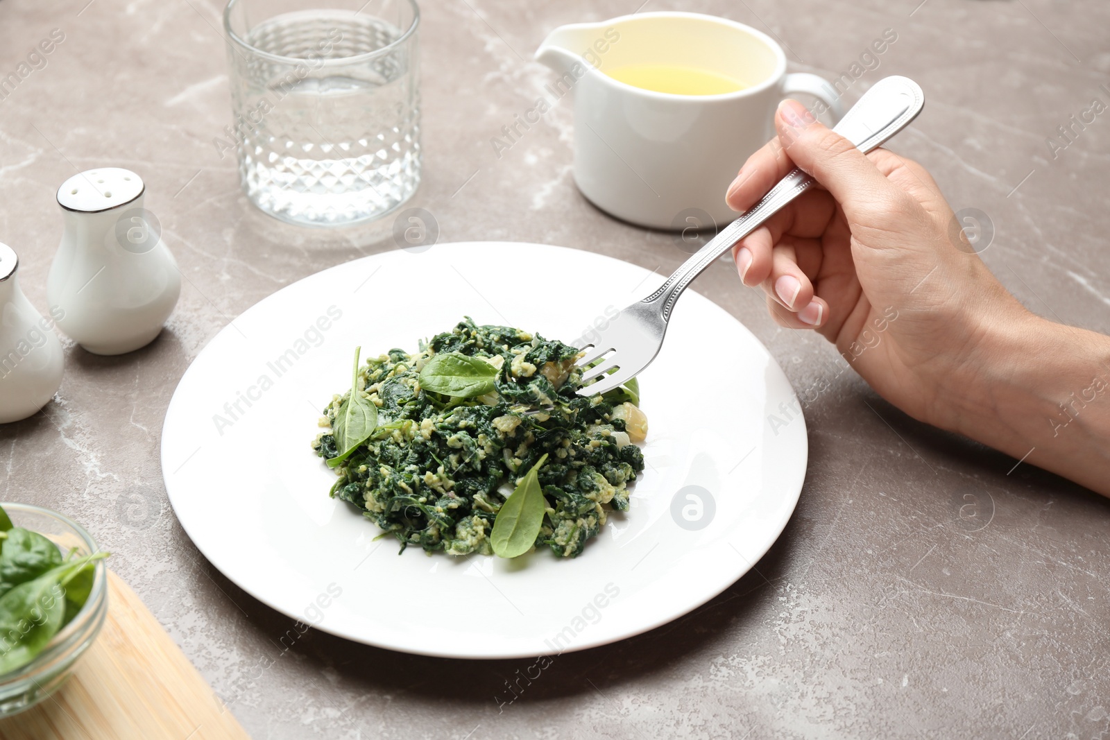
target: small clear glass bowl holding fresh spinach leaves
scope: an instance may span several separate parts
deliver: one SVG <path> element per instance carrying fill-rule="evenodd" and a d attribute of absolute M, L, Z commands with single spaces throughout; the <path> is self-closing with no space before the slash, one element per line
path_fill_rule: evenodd
<path fill-rule="evenodd" d="M 79 524 L 57 511 L 30 504 L 0 504 L 17 527 L 54 540 L 62 555 L 75 547 L 79 555 L 97 553 L 97 543 Z M 108 614 L 108 568 L 95 561 L 89 600 L 73 619 L 54 635 L 46 649 L 22 668 L 0 675 L 0 717 L 30 709 L 65 682 L 81 653 L 92 645 Z"/>

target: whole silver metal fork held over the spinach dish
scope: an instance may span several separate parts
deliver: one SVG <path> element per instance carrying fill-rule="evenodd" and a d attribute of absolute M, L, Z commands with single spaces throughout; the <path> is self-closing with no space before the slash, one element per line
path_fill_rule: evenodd
<path fill-rule="evenodd" d="M 916 82 L 898 75 L 884 78 L 864 93 L 833 130 L 866 153 L 906 128 L 924 105 L 925 93 Z M 591 327 L 575 343 L 576 347 L 586 351 L 577 364 L 584 367 L 597 362 L 585 371 L 582 379 L 584 383 L 601 379 L 583 386 L 578 393 L 584 396 L 606 393 L 647 367 L 659 354 L 670 312 L 690 281 L 815 184 L 813 178 L 795 168 L 761 201 L 690 255 L 658 290 L 627 306 L 602 327 Z"/>

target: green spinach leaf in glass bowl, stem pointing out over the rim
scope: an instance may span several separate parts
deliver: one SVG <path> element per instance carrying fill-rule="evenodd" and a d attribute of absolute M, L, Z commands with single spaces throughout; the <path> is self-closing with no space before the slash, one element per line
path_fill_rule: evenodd
<path fill-rule="evenodd" d="M 42 652 L 65 624 L 65 587 L 82 568 L 105 557 L 98 553 L 63 562 L 0 596 L 0 673 Z"/>

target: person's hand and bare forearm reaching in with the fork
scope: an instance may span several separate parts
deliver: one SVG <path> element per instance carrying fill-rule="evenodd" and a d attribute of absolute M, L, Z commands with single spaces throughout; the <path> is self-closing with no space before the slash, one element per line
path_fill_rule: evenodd
<path fill-rule="evenodd" d="M 824 334 L 910 416 L 1110 496 L 1110 337 L 1018 303 L 921 165 L 864 155 L 795 101 L 775 124 L 726 196 L 746 210 L 795 165 L 820 185 L 734 247 L 775 321 Z"/>

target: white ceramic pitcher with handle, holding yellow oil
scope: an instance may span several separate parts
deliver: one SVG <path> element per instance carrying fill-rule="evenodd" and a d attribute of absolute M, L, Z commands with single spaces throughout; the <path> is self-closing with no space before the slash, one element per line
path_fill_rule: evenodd
<path fill-rule="evenodd" d="M 654 229 L 684 229 L 704 211 L 718 226 L 738 214 L 725 191 L 744 161 L 774 134 L 779 101 L 794 93 L 842 112 L 816 74 L 786 72 L 783 49 L 754 28 L 713 16 L 649 12 L 563 26 L 536 60 L 561 77 L 547 91 L 574 95 L 574 179 L 604 211 Z M 635 88 L 606 70 L 687 67 L 745 83 L 737 92 L 680 95 Z M 700 224 L 709 226 L 712 224 Z"/>

